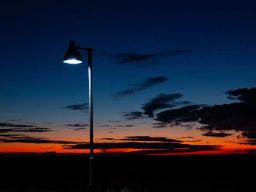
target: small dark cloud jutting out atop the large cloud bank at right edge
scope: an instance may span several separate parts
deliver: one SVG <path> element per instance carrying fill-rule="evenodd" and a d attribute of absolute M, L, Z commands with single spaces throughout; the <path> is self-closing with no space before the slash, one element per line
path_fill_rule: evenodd
<path fill-rule="evenodd" d="M 229 99 L 238 99 L 242 102 L 256 102 L 256 87 L 229 90 L 226 93 L 229 95 Z"/>

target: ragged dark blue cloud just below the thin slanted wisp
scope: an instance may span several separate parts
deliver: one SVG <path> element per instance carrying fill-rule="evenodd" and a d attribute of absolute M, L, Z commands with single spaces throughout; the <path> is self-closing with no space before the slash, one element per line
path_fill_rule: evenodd
<path fill-rule="evenodd" d="M 177 107 L 177 105 L 188 105 L 190 102 L 183 101 L 183 102 L 175 102 L 176 99 L 182 97 L 182 94 L 159 94 L 153 99 L 150 99 L 149 102 L 143 104 L 142 109 L 144 110 L 144 114 L 153 117 L 154 111 L 163 109 L 163 108 L 173 108 Z"/>

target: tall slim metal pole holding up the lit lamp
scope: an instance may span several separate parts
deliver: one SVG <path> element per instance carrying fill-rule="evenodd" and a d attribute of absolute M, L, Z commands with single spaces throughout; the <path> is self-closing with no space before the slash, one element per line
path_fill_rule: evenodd
<path fill-rule="evenodd" d="M 88 75 L 89 75 L 89 113 L 90 113 L 90 192 L 93 192 L 93 85 L 92 85 L 92 50 L 88 49 Z"/>

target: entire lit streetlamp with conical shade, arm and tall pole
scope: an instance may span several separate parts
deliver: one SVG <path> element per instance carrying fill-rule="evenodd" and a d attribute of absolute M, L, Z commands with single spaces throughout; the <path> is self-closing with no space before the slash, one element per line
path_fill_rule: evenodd
<path fill-rule="evenodd" d="M 63 62 L 68 64 L 82 63 L 82 58 L 77 49 L 87 50 L 88 54 L 88 74 L 89 74 L 89 113 L 90 113 L 90 192 L 93 192 L 93 93 L 92 93 L 92 52 L 91 48 L 78 47 L 74 40 L 70 41 L 69 48 L 64 55 Z"/>

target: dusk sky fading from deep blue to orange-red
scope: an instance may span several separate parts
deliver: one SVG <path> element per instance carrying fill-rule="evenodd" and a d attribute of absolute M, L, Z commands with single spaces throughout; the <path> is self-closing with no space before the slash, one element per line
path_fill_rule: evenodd
<path fill-rule="evenodd" d="M 0 152 L 256 151 L 254 0 L 2 0 Z"/>

